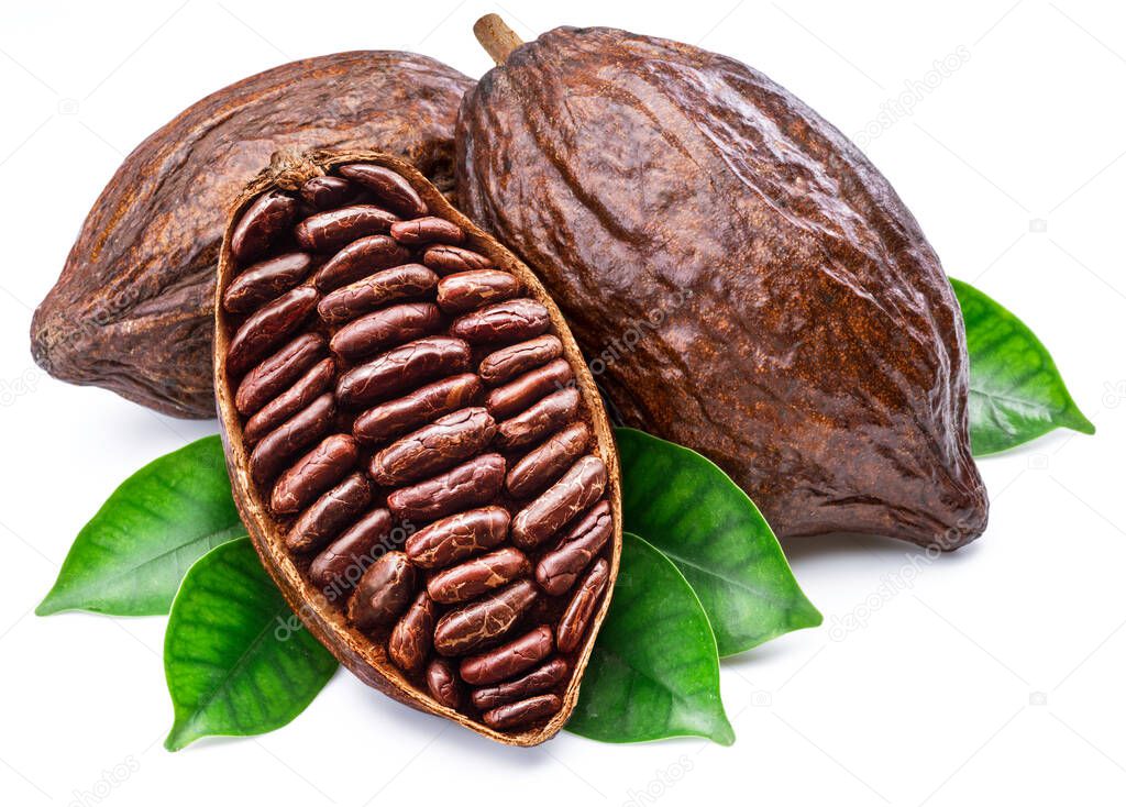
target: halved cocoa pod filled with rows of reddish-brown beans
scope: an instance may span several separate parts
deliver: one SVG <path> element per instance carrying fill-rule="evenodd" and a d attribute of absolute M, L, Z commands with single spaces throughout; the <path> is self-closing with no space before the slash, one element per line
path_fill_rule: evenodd
<path fill-rule="evenodd" d="M 286 199 L 306 215 L 277 231 Z M 325 280 L 372 239 L 375 259 Z M 248 294 L 294 243 L 321 269 Z M 236 301 L 215 310 L 227 465 L 286 600 L 391 697 L 502 743 L 553 736 L 609 604 L 622 515 L 606 413 L 538 280 L 374 152 L 277 155 L 235 205 L 218 277 Z"/>

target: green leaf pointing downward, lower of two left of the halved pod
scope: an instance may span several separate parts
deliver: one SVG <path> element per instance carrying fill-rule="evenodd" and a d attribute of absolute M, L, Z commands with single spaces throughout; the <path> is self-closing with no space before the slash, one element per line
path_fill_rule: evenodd
<path fill-rule="evenodd" d="M 164 747 L 262 734 L 302 712 L 337 660 L 293 615 L 249 538 L 204 555 L 184 579 L 164 635 L 176 721 Z"/>

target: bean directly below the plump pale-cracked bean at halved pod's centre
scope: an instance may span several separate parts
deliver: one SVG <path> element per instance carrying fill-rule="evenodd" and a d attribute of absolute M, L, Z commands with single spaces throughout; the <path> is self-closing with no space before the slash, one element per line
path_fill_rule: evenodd
<path fill-rule="evenodd" d="M 503 484 L 504 458 L 483 454 L 426 482 L 400 487 L 387 496 L 387 506 L 400 520 L 430 521 L 492 502 Z"/>

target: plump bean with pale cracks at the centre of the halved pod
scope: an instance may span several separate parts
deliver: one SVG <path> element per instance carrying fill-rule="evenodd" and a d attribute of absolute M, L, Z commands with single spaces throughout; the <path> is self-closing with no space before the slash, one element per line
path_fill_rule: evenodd
<path fill-rule="evenodd" d="M 484 450 L 497 423 L 482 406 L 444 415 L 372 457 L 368 472 L 381 485 L 395 486 L 426 478 Z"/>

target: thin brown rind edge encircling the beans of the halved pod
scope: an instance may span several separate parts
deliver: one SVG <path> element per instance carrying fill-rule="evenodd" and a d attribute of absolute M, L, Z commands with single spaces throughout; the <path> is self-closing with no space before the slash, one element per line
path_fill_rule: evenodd
<path fill-rule="evenodd" d="M 329 607 L 321 592 L 302 574 L 301 570 L 294 563 L 293 557 L 286 550 L 284 532 L 280 529 L 279 522 L 270 514 L 268 502 L 259 494 L 250 476 L 250 450 L 242 439 L 241 420 L 234 406 L 232 379 L 227 376 L 226 362 L 223 360 L 227 355 L 232 335 L 231 317 L 223 311 L 222 306 L 216 306 L 214 339 L 215 394 L 218 403 L 220 428 L 226 449 L 227 467 L 231 474 L 235 502 L 242 515 L 243 523 L 250 532 L 254 548 L 258 550 L 267 571 L 280 588 L 286 601 L 318 639 L 360 680 L 403 703 L 452 719 L 498 742 L 521 746 L 536 745 L 554 736 L 563 727 L 574 709 L 579 697 L 582 670 L 590 657 L 598 626 L 601 624 L 609 607 L 613 581 L 617 574 L 622 547 L 619 474 L 613 431 L 601 407 L 601 401 L 598 396 L 593 378 L 587 370 L 579 347 L 571 337 L 562 314 L 544 290 L 542 284 L 511 252 L 458 213 L 438 189 L 428 183 L 426 178 L 411 165 L 394 156 L 377 152 L 347 152 L 314 153 L 309 155 L 307 159 L 300 161 L 292 159 L 275 160 L 271 169 L 263 172 L 247 188 L 232 208 L 232 215 L 227 224 L 218 266 L 218 289 L 221 293 L 226 287 L 235 270 L 235 263 L 230 251 L 230 234 L 234 227 L 234 223 L 242 210 L 258 195 L 271 187 L 294 189 L 297 183 L 309 178 L 311 164 L 315 171 L 318 169 L 330 170 L 336 165 L 354 162 L 370 162 L 384 165 L 406 178 L 432 213 L 462 227 L 466 234 L 465 246 L 485 254 L 498 268 L 515 275 L 524 284 L 526 295 L 535 298 L 547 308 L 554 332 L 563 343 L 563 356 L 575 369 L 575 385 L 581 393 L 586 416 L 595 434 L 593 451 L 597 456 L 601 457 L 606 466 L 608 478 L 606 495 L 614 512 L 615 523 L 608 557 L 610 563 L 610 588 L 608 588 L 606 594 L 602 597 L 598 611 L 595 615 L 592 629 L 574 656 L 574 674 L 562 694 L 560 711 L 544 725 L 521 730 L 498 730 L 484 723 L 473 720 L 466 715 L 439 703 L 427 692 L 414 688 L 387 657 L 385 646 L 382 643 L 372 642 L 372 639 L 349 625 L 346 616 L 340 610 Z"/>

